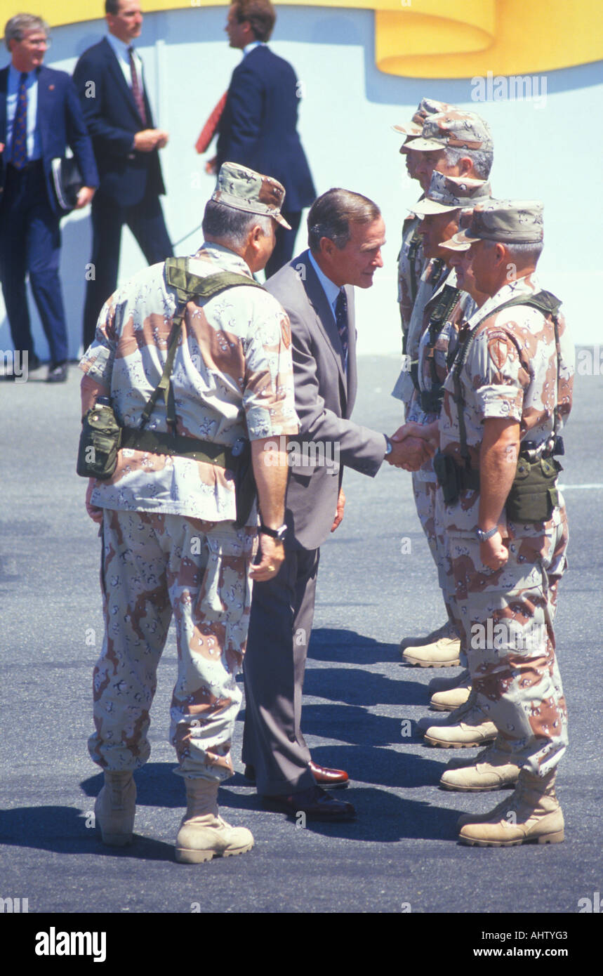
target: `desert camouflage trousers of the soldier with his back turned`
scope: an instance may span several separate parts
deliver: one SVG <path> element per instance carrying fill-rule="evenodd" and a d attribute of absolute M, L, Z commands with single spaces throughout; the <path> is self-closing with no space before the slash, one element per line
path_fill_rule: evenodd
<path fill-rule="evenodd" d="M 175 772 L 226 779 L 242 698 L 235 676 L 247 641 L 256 529 L 104 508 L 101 539 L 105 633 L 93 680 L 92 758 L 112 771 L 138 769 L 148 759 L 149 710 L 174 615 Z"/>

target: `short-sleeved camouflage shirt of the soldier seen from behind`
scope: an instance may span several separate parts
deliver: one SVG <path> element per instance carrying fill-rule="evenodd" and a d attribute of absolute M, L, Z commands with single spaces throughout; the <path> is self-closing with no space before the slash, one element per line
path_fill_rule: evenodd
<path fill-rule="evenodd" d="M 218 244 L 204 244 L 189 269 L 199 276 L 223 270 L 251 277 L 243 259 Z M 124 427 L 139 427 L 144 405 L 159 382 L 177 306 L 164 265 L 153 264 L 102 307 L 95 342 L 80 368 L 110 389 Z M 179 434 L 231 447 L 241 437 L 297 433 L 291 328 L 281 305 L 267 292 L 245 287 L 189 302 L 172 385 Z M 161 398 L 146 429 L 168 429 Z M 232 472 L 130 449 L 120 450 L 110 479 L 97 481 L 92 503 L 208 521 L 236 517 Z M 256 524 L 255 509 L 248 524 Z"/>

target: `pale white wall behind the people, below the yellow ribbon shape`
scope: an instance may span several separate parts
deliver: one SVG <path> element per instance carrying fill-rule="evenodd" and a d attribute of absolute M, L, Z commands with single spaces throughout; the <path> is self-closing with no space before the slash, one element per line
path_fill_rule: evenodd
<path fill-rule="evenodd" d="M 228 85 L 240 54 L 227 46 L 225 8 L 191 8 L 148 14 L 139 44 L 157 124 L 170 132 L 162 151 L 168 195 L 167 224 L 173 241 L 200 224 L 213 180 L 203 173 L 194 142 Z M 104 21 L 53 31 L 50 66 L 71 71 L 77 57 L 100 40 Z M 385 266 L 375 285 L 358 293 L 360 352 L 396 352 L 400 347 L 395 301 L 395 259 L 400 224 L 419 195 L 406 176 L 393 123 L 410 119 L 423 95 L 477 110 L 495 140 L 493 190 L 497 196 L 543 199 L 545 249 L 541 278 L 564 301 L 576 342 L 596 344 L 597 297 L 603 293 L 603 224 L 599 175 L 603 139 L 598 122 L 602 95 L 600 62 L 549 73 L 546 98 L 535 102 L 472 102 L 469 80 L 417 80 L 382 74 L 374 60 L 372 11 L 281 7 L 270 46 L 294 65 L 302 82 L 300 131 L 318 192 L 333 185 L 358 190 L 381 206 L 387 226 Z M 543 92 L 539 77 L 539 94 Z M 90 258 L 88 212 L 63 224 L 61 272 L 70 354 L 80 345 L 85 264 Z M 176 249 L 188 254 L 201 241 L 197 231 Z M 301 231 L 299 249 L 305 241 Z M 143 259 L 129 232 L 123 235 L 120 278 Z M 595 305 L 596 303 L 596 305 Z M 38 354 L 48 352 L 30 304 Z M 0 322 L 4 310 L 0 307 Z M 8 323 L 0 325 L 0 349 L 11 348 Z"/>

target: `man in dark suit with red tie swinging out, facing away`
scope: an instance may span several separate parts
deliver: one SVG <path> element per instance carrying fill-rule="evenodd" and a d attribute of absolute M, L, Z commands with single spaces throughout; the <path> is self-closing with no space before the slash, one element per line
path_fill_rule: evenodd
<path fill-rule="evenodd" d="M 226 161 L 268 173 L 285 187 L 283 216 L 291 230 L 279 226 L 266 277 L 293 257 L 302 209 L 316 190 L 297 131 L 300 86 L 288 61 L 266 46 L 276 20 L 270 0 L 235 0 L 228 11 L 226 33 L 231 48 L 243 51 L 232 72 L 218 124 L 216 157 L 209 172 Z"/>

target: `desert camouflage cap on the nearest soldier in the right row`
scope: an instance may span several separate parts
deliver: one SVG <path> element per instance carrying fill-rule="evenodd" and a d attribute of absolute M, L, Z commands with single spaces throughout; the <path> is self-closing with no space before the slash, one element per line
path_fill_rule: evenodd
<path fill-rule="evenodd" d="M 471 223 L 447 241 L 451 251 L 465 251 L 476 241 L 541 244 L 543 204 L 540 200 L 491 200 L 475 206 Z"/>

